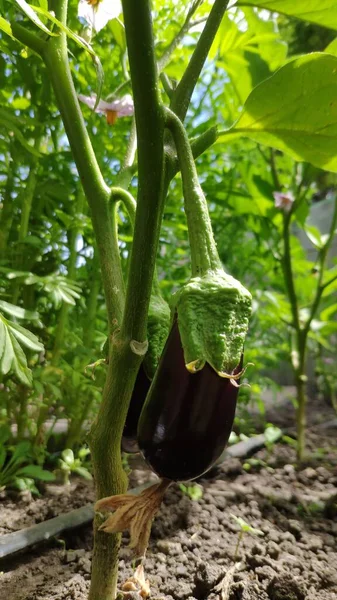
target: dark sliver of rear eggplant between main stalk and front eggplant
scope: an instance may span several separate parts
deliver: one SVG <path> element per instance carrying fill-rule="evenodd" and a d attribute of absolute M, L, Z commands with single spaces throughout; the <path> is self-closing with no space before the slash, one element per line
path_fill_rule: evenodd
<path fill-rule="evenodd" d="M 128 414 L 122 436 L 122 450 L 124 452 L 135 453 L 139 452 L 137 444 L 137 426 L 139 416 L 142 411 L 146 395 L 150 389 L 151 380 L 146 375 L 145 368 L 141 364 L 135 386 L 133 388 Z"/>

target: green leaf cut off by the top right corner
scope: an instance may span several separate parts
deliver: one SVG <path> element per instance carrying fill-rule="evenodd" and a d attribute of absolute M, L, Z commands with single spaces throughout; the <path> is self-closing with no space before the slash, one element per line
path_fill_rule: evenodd
<path fill-rule="evenodd" d="M 337 29 L 335 0 L 239 0 L 236 6 L 258 6 L 330 29 Z"/>

